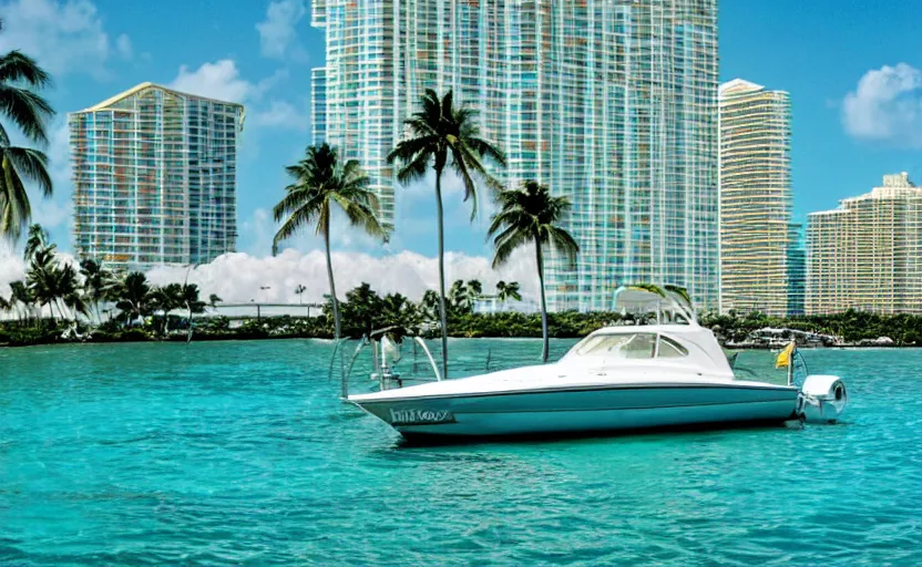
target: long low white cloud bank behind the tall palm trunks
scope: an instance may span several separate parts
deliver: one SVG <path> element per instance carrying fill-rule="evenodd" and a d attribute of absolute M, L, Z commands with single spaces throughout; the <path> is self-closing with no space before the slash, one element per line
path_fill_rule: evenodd
<path fill-rule="evenodd" d="M 533 250 L 522 248 L 501 270 L 490 267 L 490 259 L 480 256 L 448 252 L 445 255 L 447 286 L 455 279 L 479 279 L 485 291 L 496 281 L 519 281 L 523 295 L 534 298 L 537 291 Z M 337 295 L 361 282 L 368 282 L 379 293 L 400 292 L 418 300 L 427 289 L 439 285 L 438 258 L 416 252 L 373 257 L 361 252 L 334 252 L 334 272 Z M 183 281 L 186 268 L 156 268 L 147 274 L 154 284 Z M 320 250 L 305 255 L 288 249 L 273 258 L 256 257 L 243 252 L 226 254 L 212 264 L 198 266 L 189 272 L 188 281 L 197 284 L 205 296 L 217 293 L 225 301 L 297 302 L 295 286 L 307 287 L 305 301 L 321 301 L 328 292 L 326 257 Z M 268 286 L 270 289 L 260 290 Z"/>

